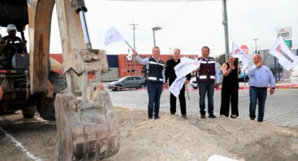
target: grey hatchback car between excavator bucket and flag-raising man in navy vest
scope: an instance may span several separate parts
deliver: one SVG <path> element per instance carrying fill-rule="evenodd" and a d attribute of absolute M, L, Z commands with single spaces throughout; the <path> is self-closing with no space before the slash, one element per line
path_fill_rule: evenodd
<path fill-rule="evenodd" d="M 145 78 L 143 76 L 126 76 L 107 85 L 108 89 L 119 91 L 123 88 L 145 88 Z"/>

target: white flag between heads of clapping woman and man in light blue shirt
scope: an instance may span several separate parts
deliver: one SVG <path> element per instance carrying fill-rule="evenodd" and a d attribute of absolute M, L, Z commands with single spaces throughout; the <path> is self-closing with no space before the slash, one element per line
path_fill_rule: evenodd
<path fill-rule="evenodd" d="M 236 43 L 232 43 L 232 53 L 231 53 L 231 57 L 238 57 L 242 59 L 242 65 L 244 69 L 247 69 L 250 61 L 252 59 L 250 59 L 250 57 L 248 57 L 248 55 L 246 55 L 246 53 L 239 48 L 239 46 Z"/>

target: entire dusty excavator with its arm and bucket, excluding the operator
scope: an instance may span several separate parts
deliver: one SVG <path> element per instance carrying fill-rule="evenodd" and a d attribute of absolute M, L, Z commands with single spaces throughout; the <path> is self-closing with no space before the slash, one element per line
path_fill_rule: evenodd
<path fill-rule="evenodd" d="M 50 26 L 56 7 L 62 45 L 63 75 L 49 57 Z M 100 90 L 100 76 L 108 69 L 104 50 L 92 49 L 83 0 L 0 0 L 0 26 L 15 25 L 29 53 L 15 52 L 11 66 L 0 66 L 4 97 L 0 112 L 22 110 L 56 121 L 55 160 L 100 160 L 118 152 L 120 131 L 109 94 Z M 3 44 L 0 48 L 3 48 Z M 56 65 L 57 66 L 57 65 Z"/>

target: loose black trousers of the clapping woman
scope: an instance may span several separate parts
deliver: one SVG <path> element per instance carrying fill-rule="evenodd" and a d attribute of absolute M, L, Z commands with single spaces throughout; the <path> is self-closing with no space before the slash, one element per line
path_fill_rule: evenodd
<path fill-rule="evenodd" d="M 233 89 L 234 88 L 234 89 Z M 231 115 L 239 116 L 238 113 L 238 89 L 236 87 L 225 87 L 222 89 L 222 104 L 220 105 L 220 115 L 229 117 L 231 102 Z"/>

